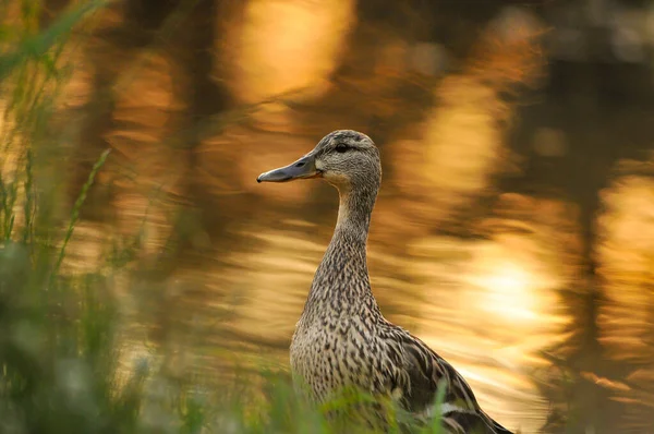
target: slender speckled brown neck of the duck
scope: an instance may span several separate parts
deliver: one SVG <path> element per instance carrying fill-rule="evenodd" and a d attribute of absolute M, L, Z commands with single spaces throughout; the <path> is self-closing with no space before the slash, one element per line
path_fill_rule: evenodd
<path fill-rule="evenodd" d="M 331 242 L 316 270 L 305 314 L 379 314 L 371 291 L 366 243 L 377 189 L 341 189 Z"/>

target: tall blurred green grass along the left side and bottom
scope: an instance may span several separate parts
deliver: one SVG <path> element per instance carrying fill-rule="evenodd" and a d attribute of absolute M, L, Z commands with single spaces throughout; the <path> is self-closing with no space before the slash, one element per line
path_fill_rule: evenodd
<path fill-rule="evenodd" d="M 312 407 L 295 396 L 286 373 L 237 372 L 230 381 L 172 376 L 159 367 L 164 350 L 122 366 L 111 288 L 124 252 L 107 245 L 111 253 L 98 269 L 61 272 L 87 192 L 109 158 L 108 150 L 99 157 L 68 209 L 58 188 L 65 159 L 52 158 L 65 140 L 52 122 L 70 67 L 61 53 L 71 31 L 101 5 L 83 3 L 41 29 L 39 3 L 25 0 L 15 20 L 2 24 L 11 32 L 0 32 L 0 432 L 370 431 L 349 417 L 327 418 L 354 413 L 346 410 L 366 402 L 363 395 Z M 9 8 L 0 3 L 0 15 L 10 16 Z M 388 411 L 395 421 L 397 409 Z M 439 426 L 420 431 L 437 433 Z"/>

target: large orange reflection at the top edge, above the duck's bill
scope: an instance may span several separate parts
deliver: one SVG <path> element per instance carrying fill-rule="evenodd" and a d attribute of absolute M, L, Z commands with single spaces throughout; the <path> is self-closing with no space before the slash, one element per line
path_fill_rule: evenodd
<path fill-rule="evenodd" d="M 353 0 L 249 1 L 222 47 L 233 60 L 233 91 L 244 103 L 324 91 L 354 23 L 353 9 Z"/>

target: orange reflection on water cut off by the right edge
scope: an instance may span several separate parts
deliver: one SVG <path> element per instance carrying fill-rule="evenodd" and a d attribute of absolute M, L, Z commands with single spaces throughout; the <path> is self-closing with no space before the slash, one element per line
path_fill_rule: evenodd
<path fill-rule="evenodd" d="M 600 273 L 610 299 L 601 317 L 611 357 L 654 355 L 654 180 L 618 178 L 603 193 L 606 212 L 598 218 Z"/>

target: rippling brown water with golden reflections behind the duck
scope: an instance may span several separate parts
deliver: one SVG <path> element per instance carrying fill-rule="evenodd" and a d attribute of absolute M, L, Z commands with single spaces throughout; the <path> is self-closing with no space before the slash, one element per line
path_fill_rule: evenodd
<path fill-rule="evenodd" d="M 356 129 L 383 154 L 368 261 L 385 315 L 505 425 L 654 431 L 650 67 L 557 62 L 529 9 L 451 15 L 477 35 L 463 56 L 462 39 L 424 36 L 417 7 L 373 20 L 351 0 L 216 3 L 150 33 L 128 4 L 70 55 L 74 172 L 114 153 L 68 265 L 93 267 L 111 230 L 142 232 L 119 290 L 146 339 L 182 366 L 197 350 L 216 370 L 288 367 L 337 194 L 255 179 Z"/>

